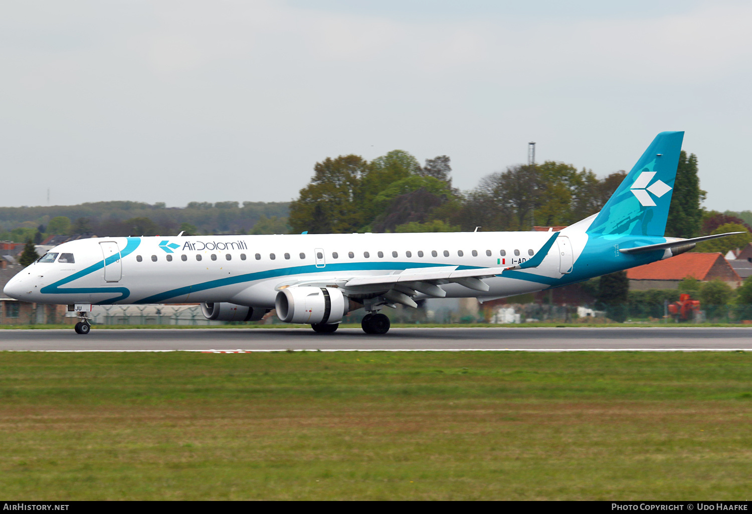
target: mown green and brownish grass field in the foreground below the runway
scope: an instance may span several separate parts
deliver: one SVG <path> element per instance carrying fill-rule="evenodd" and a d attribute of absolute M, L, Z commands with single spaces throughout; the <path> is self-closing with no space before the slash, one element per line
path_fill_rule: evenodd
<path fill-rule="evenodd" d="M 744 500 L 745 352 L 0 353 L 0 497 Z"/>

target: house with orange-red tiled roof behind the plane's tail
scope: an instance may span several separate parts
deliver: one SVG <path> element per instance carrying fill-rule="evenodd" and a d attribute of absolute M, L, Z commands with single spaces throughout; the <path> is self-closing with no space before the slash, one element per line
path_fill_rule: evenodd
<path fill-rule="evenodd" d="M 687 277 L 703 282 L 722 280 L 734 289 L 741 286 L 741 277 L 720 252 L 682 253 L 665 261 L 631 268 L 626 271 L 626 277 L 629 279 L 629 289 L 638 291 L 677 289 L 679 282 Z"/>

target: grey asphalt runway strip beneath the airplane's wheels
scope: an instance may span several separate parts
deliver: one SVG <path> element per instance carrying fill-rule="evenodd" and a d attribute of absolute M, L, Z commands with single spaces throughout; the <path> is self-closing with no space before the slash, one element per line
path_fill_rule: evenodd
<path fill-rule="evenodd" d="M 316 334 L 304 328 L 2 330 L 0 350 L 208 351 L 526 350 L 752 351 L 752 328 L 393 328 L 368 335 L 344 328 Z"/>

